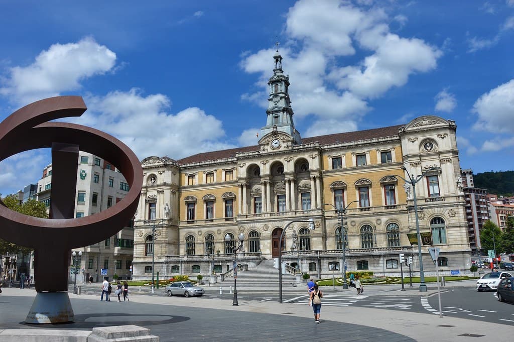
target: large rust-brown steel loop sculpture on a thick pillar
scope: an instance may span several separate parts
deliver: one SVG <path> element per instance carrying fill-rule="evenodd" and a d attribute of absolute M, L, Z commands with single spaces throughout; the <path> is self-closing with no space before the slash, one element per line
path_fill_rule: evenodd
<path fill-rule="evenodd" d="M 138 205 L 143 172 L 131 149 L 120 140 L 89 127 L 49 122 L 81 116 L 86 109 L 80 96 L 53 97 L 33 102 L 0 123 L 0 161 L 23 151 L 52 149 L 50 218 L 29 217 L 8 209 L 0 201 L 0 238 L 34 248 L 38 296 L 66 292 L 71 249 L 95 244 L 115 235 L 131 220 Z M 121 171 L 130 190 L 111 208 L 95 215 L 74 218 L 79 150 L 112 163 Z M 38 306 L 38 296 L 32 309 Z M 67 293 L 65 297 L 69 302 Z M 68 318 L 64 317 L 66 313 L 56 314 L 58 317 L 45 321 L 34 319 L 39 313 L 31 310 L 26 321 L 53 323 L 73 320 L 72 310 L 71 318 L 69 314 Z M 59 316 L 63 316 L 62 319 Z"/>

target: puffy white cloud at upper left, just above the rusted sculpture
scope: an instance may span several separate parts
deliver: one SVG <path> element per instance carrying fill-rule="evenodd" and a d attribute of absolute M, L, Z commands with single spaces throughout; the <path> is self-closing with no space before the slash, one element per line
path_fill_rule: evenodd
<path fill-rule="evenodd" d="M 81 81 L 106 73 L 115 62 L 116 54 L 90 37 L 77 43 L 54 44 L 32 64 L 10 68 L 0 94 L 21 104 L 58 96 L 80 89 Z"/>

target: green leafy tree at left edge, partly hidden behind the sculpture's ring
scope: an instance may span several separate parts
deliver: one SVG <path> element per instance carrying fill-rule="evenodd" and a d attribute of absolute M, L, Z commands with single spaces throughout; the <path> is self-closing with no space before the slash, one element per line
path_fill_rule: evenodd
<path fill-rule="evenodd" d="M 42 202 L 38 202 L 36 200 L 28 200 L 27 202 L 20 204 L 14 195 L 9 195 L 2 199 L 2 201 L 7 208 L 13 211 L 21 212 L 22 214 L 36 218 L 48 218 L 45 204 Z M 19 246 L 12 242 L 0 239 L 0 255 L 4 255 L 6 253 L 15 254 L 20 252 L 26 255 L 31 251 L 32 249 L 29 247 Z"/>

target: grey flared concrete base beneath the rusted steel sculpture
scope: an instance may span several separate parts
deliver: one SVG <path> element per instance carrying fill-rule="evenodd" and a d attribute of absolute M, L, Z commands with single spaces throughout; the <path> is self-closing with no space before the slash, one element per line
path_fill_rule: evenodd
<path fill-rule="evenodd" d="M 75 314 L 67 292 L 38 292 L 26 323 L 50 324 L 75 321 Z"/>

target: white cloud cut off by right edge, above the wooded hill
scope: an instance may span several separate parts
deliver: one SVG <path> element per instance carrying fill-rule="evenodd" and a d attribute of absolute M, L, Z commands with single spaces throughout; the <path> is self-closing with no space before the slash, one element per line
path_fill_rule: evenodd
<path fill-rule="evenodd" d="M 478 114 L 475 130 L 492 133 L 514 132 L 514 80 L 499 85 L 483 94 L 473 104 L 473 113 Z"/>

